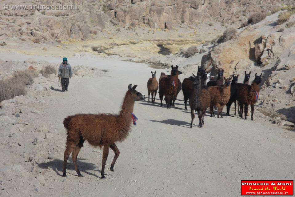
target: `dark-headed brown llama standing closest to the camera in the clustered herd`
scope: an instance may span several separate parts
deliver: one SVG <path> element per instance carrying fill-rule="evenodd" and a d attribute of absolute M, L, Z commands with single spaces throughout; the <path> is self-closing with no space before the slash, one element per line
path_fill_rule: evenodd
<path fill-rule="evenodd" d="M 194 89 L 193 89 L 193 93 L 191 94 L 189 98 L 189 106 L 191 109 L 191 116 L 192 116 L 190 128 L 193 127 L 193 119 L 195 118 L 195 111 L 197 111 L 198 113 L 199 127 L 203 127 L 204 116 L 205 116 L 207 108 L 210 106 L 210 101 L 211 101 L 211 95 L 209 91 L 207 90 L 207 87 L 202 88 L 201 78 L 203 76 L 200 76 L 199 74 L 200 74 L 199 72 L 197 76 L 193 74 Z M 205 76 L 207 75 L 206 73 L 203 73 L 203 74 Z"/>

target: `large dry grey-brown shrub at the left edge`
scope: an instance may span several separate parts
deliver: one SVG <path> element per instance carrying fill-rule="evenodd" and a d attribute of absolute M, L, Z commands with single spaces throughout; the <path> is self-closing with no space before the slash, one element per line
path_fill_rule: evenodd
<path fill-rule="evenodd" d="M 0 80 L 0 102 L 26 94 L 26 85 L 34 83 L 33 78 L 38 74 L 34 70 L 17 71 L 8 80 Z"/>

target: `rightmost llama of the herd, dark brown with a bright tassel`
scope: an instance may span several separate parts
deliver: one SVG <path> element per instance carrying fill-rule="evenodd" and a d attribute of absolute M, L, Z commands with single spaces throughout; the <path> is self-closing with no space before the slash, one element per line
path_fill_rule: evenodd
<path fill-rule="evenodd" d="M 245 110 L 245 120 L 247 119 L 248 105 L 251 106 L 251 120 L 253 120 L 254 104 L 257 102 L 259 97 L 259 90 L 261 84 L 261 75 L 255 73 L 255 79 L 253 80 L 251 86 L 248 84 L 243 84 L 237 90 L 237 100 L 240 105 L 240 117 L 243 118 L 243 107 Z"/>

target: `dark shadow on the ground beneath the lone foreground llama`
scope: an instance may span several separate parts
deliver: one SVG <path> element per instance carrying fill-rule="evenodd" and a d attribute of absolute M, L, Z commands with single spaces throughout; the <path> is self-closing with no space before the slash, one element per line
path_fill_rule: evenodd
<path fill-rule="evenodd" d="M 97 178 L 100 178 L 96 174 L 86 171 L 86 170 L 93 170 L 93 171 L 98 171 L 99 173 L 101 173 L 101 171 L 97 169 L 97 166 L 94 165 L 93 163 L 82 162 L 82 160 L 85 160 L 85 159 L 77 158 L 77 164 L 78 164 L 80 172 L 84 172 L 88 175 L 93 175 L 93 176 L 96 176 Z M 67 163 L 67 167 L 66 167 L 67 170 L 75 170 L 74 163 L 72 161 L 73 161 L 72 158 L 69 158 L 68 163 Z M 62 174 L 60 174 L 60 172 L 62 172 L 63 161 L 60 159 L 54 159 L 54 160 L 51 160 L 47 163 L 38 163 L 38 166 L 41 168 L 51 168 L 53 171 L 56 172 L 57 175 L 62 176 Z M 67 174 L 70 174 L 70 173 L 67 172 Z M 78 176 L 78 175 L 76 175 L 76 173 L 74 175 Z"/>

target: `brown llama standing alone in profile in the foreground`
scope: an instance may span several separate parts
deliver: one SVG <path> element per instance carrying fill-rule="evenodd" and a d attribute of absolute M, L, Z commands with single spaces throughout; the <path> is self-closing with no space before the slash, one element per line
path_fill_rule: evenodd
<path fill-rule="evenodd" d="M 77 166 L 77 156 L 83 147 L 85 140 L 92 146 L 103 147 L 102 154 L 102 179 L 105 178 L 105 165 L 111 148 L 114 159 L 110 170 L 114 171 L 114 164 L 120 154 L 115 142 L 122 142 L 129 135 L 131 123 L 137 120 L 133 114 L 134 102 L 144 100 L 145 96 L 135 90 L 136 86 L 128 91 L 122 103 L 122 110 L 118 115 L 111 114 L 76 114 L 64 119 L 63 124 L 67 129 L 66 151 L 64 153 L 64 163 L 62 174 L 66 177 L 66 164 L 69 155 L 72 153 L 73 163 L 78 176 L 82 176 Z"/>

